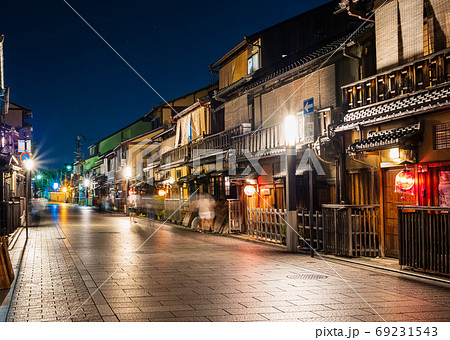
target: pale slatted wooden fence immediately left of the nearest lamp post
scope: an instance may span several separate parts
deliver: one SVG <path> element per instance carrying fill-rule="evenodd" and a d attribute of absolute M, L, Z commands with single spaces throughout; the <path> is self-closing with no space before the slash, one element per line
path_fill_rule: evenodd
<path fill-rule="evenodd" d="M 247 235 L 282 244 L 285 237 L 286 211 L 281 209 L 247 209 Z"/>

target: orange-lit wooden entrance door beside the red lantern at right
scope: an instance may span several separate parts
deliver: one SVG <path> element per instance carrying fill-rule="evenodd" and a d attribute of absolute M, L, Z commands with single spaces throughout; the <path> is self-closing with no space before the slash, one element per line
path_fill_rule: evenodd
<path fill-rule="evenodd" d="M 398 257 L 398 210 L 399 205 L 415 205 L 413 195 L 395 192 L 395 176 L 403 168 L 383 171 L 384 196 L 384 249 L 385 255 Z"/>

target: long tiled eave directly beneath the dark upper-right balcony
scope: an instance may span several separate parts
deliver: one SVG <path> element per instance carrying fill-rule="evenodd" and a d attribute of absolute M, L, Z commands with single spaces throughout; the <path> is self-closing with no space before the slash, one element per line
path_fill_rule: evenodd
<path fill-rule="evenodd" d="M 450 84 L 349 110 L 335 132 L 372 125 L 450 105 Z"/>

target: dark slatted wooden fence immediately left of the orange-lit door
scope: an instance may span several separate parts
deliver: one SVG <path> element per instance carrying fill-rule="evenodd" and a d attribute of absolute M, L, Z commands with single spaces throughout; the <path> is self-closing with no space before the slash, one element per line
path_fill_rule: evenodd
<path fill-rule="evenodd" d="M 322 214 L 326 253 L 380 256 L 378 205 L 324 204 Z"/>

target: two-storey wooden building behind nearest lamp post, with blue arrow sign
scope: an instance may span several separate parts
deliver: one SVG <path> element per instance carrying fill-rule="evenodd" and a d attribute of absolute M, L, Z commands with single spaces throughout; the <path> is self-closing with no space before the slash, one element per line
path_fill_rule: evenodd
<path fill-rule="evenodd" d="M 337 201 L 341 146 L 329 140 L 328 126 L 340 117 L 340 86 L 370 73 L 374 64 L 369 54 L 373 25 L 359 27 L 357 19 L 335 13 L 337 8 L 337 2 L 330 2 L 244 37 L 210 66 L 219 74 L 214 98 L 221 105 L 215 111 L 223 115 L 229 135 L 226 159 L 235 165 L 226 179 L 243 202 L 247 230 L 253 228 L 250 220 L 261 224 L 266 209 L 285 209 L 283 122 L 290 114 L 297 117 L 299 132 L 297 208 L 314 212 Z M 356 56 L 362 50 L 366 54 Z M 313 173 L 308 171 L 309 158 L 317 160 Z M 244 194 L 246 185 L 253 185 L 255 194 Z"/>

